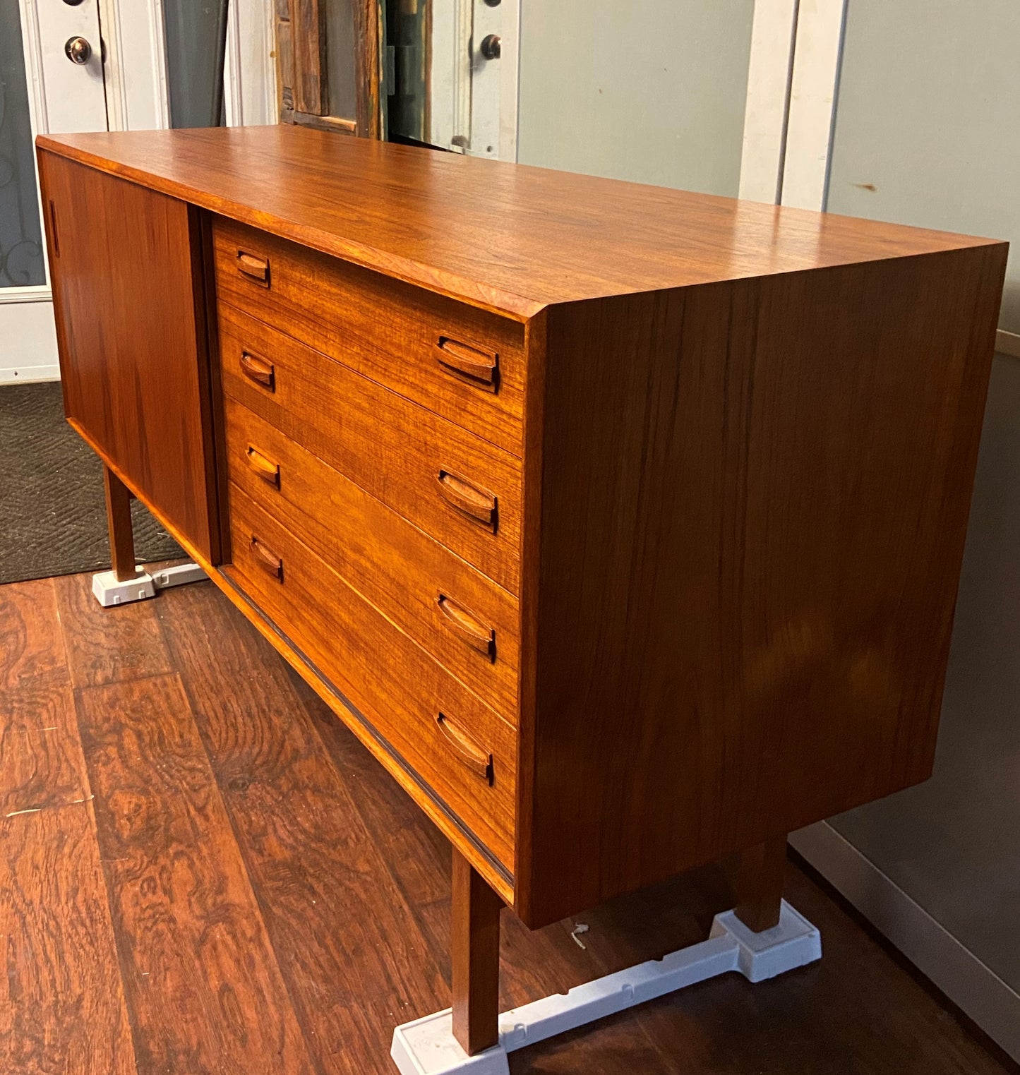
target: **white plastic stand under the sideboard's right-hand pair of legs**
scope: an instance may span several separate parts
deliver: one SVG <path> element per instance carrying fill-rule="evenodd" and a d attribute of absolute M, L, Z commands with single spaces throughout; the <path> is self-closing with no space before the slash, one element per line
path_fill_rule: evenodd
<path fill-rule="evenodd" d="M 398 1027 L 390 1056 L 401 1075 L 508 1075 L 507 1055 L 526 1045 L 728 971 L 764 981 L 820 958 L 821 935 L 786 900 L 779 924 L 761 933 L 752 933 L 728 911 L 716 915 L 708 940 L 701 944 L 504 1012 L 500 1043 L 485 1052 L 464 1052 L 454 1037 L 447 1008 Z"/>

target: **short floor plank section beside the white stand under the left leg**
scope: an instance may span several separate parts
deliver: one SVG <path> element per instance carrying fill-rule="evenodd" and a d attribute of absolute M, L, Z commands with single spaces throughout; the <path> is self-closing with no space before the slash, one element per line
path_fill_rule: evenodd
<path fill-rule="evenodd" d="M 103 608 L 88 575 L 55 578 L 57 607 L 74 687 L 95 687 L 172 671 L 155 602 Z"/>

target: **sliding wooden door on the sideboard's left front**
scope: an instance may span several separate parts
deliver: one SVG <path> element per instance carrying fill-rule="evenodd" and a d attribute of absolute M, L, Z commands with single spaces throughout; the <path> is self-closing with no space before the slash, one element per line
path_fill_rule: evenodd
<path fill-rule="evenodd" d="M 215 560 L 196 211 L 52 154 L 40 177 L 68 418 Z"/>

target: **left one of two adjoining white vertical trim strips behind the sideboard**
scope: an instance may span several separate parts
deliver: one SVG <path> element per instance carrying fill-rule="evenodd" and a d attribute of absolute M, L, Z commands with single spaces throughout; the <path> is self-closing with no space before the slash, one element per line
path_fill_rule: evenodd
<path fill-rule="evenodd" d="M 739 197 L 779 201 L 798 0 L 755 0 Z"/>

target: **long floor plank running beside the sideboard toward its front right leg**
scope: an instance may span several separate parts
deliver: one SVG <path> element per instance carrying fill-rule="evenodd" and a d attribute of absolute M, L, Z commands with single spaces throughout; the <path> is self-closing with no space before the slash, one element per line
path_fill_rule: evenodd
<path fill-rule="evenodd" d="M 370 833 L 361 789 L 337 771 L 272 647 L 212 587 L 166 598 L 167 637 L 316 1064 L 388 1073 L 392 1027 L 448 1003 L 386 865 L 420 812 L 404 797 L 385 835 Z M 396 788 L 345 734 L 375 782 Z"/>

